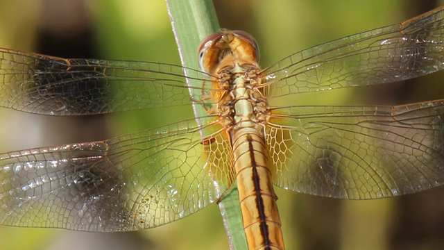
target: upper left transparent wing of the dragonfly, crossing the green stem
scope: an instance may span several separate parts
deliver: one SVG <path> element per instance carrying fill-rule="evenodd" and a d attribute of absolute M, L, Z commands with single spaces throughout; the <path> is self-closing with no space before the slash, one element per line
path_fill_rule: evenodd
<path fill-rule="evenodd" d="M 207 75 L 187 69 L 189 81 Z M 0 48 L 0 106 L 42 115 L 92 115 L 189 104 L 184 68 L 64 59 Z M 197 94 L 202 94 L 198 89 Z"/>

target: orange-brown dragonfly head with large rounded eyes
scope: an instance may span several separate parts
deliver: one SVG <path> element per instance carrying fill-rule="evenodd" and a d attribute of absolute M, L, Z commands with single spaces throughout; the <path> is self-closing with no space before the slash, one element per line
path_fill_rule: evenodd
<path fill-rule="evenodd" d="M 208 35 L 198 47 L 200 69 L 216 74 L 228 64 L 259 63 L 259 47 L 253 36 L 245 31 L 220 31 Z"/>

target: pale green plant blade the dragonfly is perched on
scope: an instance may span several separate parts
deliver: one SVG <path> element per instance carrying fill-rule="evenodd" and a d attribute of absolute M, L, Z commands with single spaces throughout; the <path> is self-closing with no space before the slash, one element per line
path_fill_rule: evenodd
<path fill-rule="evenodd" d="M 219 30 L 212 1 L 167 0 L 167 5 L 182 65 L 198 69 L 196 48 L 200 40 Z M 200 84 L 198 81 L 189 83 L 193 87 L 200 87 Z M 196 117 L 206 114 L 205 110 L 199 106 L 194 107 L 194 110 Z M 247 249 L 237 188 L 230 188 L 228 192 L 223 194 L 223 199 L 219 202 L 219 209 L 231 249 Z"/>

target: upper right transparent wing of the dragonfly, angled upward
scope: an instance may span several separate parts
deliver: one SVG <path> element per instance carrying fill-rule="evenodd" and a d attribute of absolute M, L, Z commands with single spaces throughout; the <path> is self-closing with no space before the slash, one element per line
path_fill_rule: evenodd
<path fill-rule="evenodd" d="M 390 83 L 444 68 L 444 7 L 295 53 L 264 71 L 269 97 Z"/>

